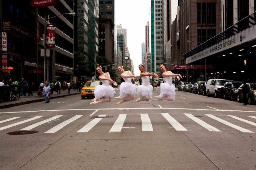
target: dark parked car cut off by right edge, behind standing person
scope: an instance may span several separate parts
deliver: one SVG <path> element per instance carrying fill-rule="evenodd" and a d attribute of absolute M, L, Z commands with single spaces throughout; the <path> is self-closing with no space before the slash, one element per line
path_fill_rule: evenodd
<path fill-rule="evenodd" d="M 248 88 L 249 88 L 249 93 L 247 96 L 248 104 L 253 104 L 256 102 L 256 83 L 246 83 Z M 242 89 L 242 84 L 238 88 L 237 92 L 237 101 L 241 102 L 243 101 L 243 89 Z"/>

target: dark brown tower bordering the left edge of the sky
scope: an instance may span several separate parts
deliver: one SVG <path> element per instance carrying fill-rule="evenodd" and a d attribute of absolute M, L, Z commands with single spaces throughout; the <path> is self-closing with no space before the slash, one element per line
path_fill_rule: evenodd
<path fill-rule="evenodd" d="M 115 63 L 115 0 L 99 0 L 99 54 Z"/>

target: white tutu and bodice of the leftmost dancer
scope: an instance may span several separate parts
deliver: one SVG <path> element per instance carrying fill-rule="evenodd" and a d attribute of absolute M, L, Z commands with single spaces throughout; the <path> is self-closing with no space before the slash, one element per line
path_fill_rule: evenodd
<path fill-rule="evenodd" d="M 114 97 L 114 93 L 116 93 L 114 88 L 110 86 L 109 80 L 102 80 L 102 85 L 96 86 L 94 90 L 94 96 L 95 98 L 103 98 L 103 97 Z"/>

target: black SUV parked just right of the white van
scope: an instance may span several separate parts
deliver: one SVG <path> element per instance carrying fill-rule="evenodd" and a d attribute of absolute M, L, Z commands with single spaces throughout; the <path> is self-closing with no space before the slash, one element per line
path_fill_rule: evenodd
<path fill-rule="evenodd" d="M 226 82 L 223 87 L 223 99 L 228 97 L 230 100 L 234 100 L 237 96 L 238 88 L 241 84 L 241 81 Z"/>

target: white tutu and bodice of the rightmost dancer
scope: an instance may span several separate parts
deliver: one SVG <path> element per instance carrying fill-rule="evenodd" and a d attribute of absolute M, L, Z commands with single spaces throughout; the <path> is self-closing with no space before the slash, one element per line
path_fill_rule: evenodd
<path fill-rule="evenodd" d="M 172 77 L 166 77 L 165 83 L 161 83 L 160 88 L 160 97 L 167 97 L 171 100 L 175 100 L 175 86 L 173 85 Z"/>

